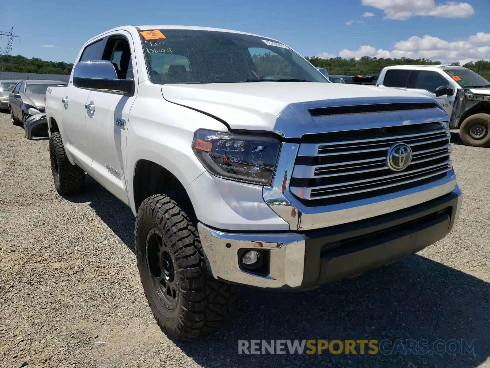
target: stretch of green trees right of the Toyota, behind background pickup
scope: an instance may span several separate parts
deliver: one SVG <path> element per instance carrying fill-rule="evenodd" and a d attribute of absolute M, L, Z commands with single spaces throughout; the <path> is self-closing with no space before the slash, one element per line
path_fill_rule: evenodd
<path fill-rule="evenodd" d="M 429 59 L 410 59 L 402 57 L 400 59 L 384 59 L 377 57 L 363 56 L 359 60 L 355 58 L 343 59 L 342 57 L 334 57 L 331 59 L 321 59 L 319 57 L 306 56 L 313 65 L 318 68 L 325 68 L 328 74 L 355 76 L 358 74 L 379 74 L 385 66 L 392 65 L 441 65 L 440 61 L 432 61 Z M 454 62 L 451 65 L 461 66 L 460 63 Z M 483 78 L 490 80 L 490 61 L 478 60 L 462 65 L 465 68 L 471 69 L 478 73 Z"/>

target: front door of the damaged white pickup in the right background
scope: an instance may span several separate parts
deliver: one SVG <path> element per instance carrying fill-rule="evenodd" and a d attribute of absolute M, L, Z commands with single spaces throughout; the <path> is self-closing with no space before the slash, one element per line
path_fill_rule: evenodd
<path fill-rule="evenodd" d="M 436 88 L 447 87 L 453 90 L 451 96 L 436 96 Z M 442 73 L 431 70 L 412 70 L 408 78 L 407 90 L 436 99 L 451 116 L 458 86 Z"/>

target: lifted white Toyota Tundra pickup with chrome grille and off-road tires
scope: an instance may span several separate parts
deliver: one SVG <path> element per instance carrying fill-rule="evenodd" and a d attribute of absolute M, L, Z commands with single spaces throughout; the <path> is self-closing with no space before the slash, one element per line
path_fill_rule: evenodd
<path fill-rule="evenodd" d="M 437 242 L 461 208 L 441 104 L 330 83 L 269 37 L 111 29 L 46 114 L 56 190 L 87 173 L 131 208 L 149 306 L 181 341 L 222 324 L 236 285 L 354 277 Z"/>

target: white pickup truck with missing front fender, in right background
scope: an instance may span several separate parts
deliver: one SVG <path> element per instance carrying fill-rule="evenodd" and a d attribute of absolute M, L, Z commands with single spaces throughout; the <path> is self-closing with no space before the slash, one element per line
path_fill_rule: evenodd
<path fill-rule="evenodd" d="M 459 129 L 466 145 L 490 146 L 490 82 L 470 69 L 451 65 L 395 65 L 383 68 L 377 86 L 435 98 Z"/>

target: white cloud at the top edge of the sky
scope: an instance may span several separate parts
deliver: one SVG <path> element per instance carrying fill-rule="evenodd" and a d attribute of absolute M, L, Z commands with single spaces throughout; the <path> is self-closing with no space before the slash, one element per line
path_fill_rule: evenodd
<path fill-rule="evenodd" d="M 468 18 L 475 9 L 467 2 L 447 1 L 445 4 L 435 0 L 362 0 L 363 5 L 383 10 L 385 18 L 404 21 L 416 16 L 442 18 Z"/>

